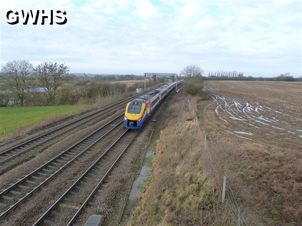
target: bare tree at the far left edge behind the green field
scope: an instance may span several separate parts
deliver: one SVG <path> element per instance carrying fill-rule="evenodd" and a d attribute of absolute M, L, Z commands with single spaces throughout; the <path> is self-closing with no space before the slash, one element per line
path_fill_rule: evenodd
<path fill-rule="evenodd" d="M 9 84 L 21 104 L 24 102 L 25 91 L 29 87 L 29 77 L 33 66 L 28 60 L 13 60 L 3 66 L 1 78 Z"/>

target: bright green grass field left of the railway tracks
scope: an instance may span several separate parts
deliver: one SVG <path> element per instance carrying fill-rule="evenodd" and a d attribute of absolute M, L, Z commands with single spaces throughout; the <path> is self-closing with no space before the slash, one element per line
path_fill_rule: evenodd
<path fill-rule="evenodd" d="M 84 109 L 89 105 L 58 105 L 58 106 L 12 106 L 0 107 L 0 136 L 10 134 L 16 130 Z"/>

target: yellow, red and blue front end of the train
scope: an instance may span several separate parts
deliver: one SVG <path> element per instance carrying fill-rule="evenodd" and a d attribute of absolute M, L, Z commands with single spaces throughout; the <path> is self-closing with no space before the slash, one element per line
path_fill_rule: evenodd
<path fill-rule="evenodd" d="M 143 125 L 148 117 L 146 112 L 147 104 L 141 99 L 134 99 L 127 104 L 124 116 L 124 125 L 126 128 L 139 129 Z"/>

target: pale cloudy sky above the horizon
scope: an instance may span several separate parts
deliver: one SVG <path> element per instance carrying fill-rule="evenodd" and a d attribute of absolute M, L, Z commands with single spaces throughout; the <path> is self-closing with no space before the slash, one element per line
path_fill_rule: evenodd
<path fill-rule="evenodd" d="M 64 63 L 73 73 L 301 76 L 302 1 L 1 1 L 1 66 Z M 64 10 L 64 25 L 10 25 L 8 10 Z"/>

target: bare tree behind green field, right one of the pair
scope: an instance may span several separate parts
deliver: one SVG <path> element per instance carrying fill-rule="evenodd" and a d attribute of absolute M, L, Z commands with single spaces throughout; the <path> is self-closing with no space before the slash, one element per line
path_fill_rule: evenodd
<path fill-rule="evenodd" d="M 69 68 L 64 64 L 44 62 L 34 69 L 37 75 L 37 84 L 43 87 L 48 94 L 48 102 L 54 102 L 57 89 L 69 79 Z"/>

